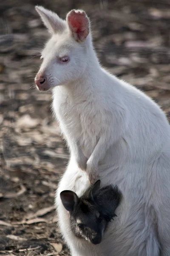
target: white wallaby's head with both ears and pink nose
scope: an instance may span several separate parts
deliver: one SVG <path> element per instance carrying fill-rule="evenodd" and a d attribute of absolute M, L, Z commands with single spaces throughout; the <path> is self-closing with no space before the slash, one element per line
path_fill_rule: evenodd
<path fill-rule="evenodd" d="M 82 10 L 68 12 L 66 20 L 42 6 L 35 7 L 51 38 L 42 51 L 42 64 L 35 77 L 38 90 L 75 81 L 88 64 L 90 23 Z"/>

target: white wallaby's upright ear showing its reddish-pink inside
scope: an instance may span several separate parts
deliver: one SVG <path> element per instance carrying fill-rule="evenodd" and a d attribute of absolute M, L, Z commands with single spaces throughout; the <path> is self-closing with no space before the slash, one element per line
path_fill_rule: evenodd
<path fill-rule="evenodd" d="M 72 10 L 66 17 L 69 29 L 76 41 L 84 41 L 89 34 L 90 22 L 82 10 Z"/>

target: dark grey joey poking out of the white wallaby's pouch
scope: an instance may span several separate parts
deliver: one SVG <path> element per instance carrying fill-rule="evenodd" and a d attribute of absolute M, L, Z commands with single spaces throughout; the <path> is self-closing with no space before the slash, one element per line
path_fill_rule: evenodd
<path fill-rule="evenodd" d="M 60 193 L 65 209 L 70 214 L 71 230 L 75 236 L 93 244 L 102 241 L 108 222 L 115 216 L 115 210 L 121 200 L 121 192 L 117 187 L 99 188 L 100 180 L 96 181 L 87 197 L 78 198 L 70 190 Z"/>

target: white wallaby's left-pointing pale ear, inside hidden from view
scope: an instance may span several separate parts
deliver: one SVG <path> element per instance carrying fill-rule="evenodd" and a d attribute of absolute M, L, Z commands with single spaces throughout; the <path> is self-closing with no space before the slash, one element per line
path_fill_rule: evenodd
<path fill-rule="evenodd" d="M 42 6 L 35 6 L 35 9 L 50 33 L 62 32 L 65 29 L 65 20 L 62 20 L 56 13 Z"/>

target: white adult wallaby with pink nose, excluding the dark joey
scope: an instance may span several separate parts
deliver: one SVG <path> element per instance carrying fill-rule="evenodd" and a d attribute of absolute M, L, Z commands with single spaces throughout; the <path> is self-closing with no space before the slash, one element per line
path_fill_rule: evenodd
<path fill-rule="evenodd" d="M 72 256 L 170 256 L 170 125 L 155 102 L 103 69 L 85 12 L 66 20 L 36 7 L 51 38 L 35 78 L 53 89 L 53 109 L 71 159 L 56 194 L 59 227 Z M 85 170 L 86 172 L 83 172 Z M 97 175 L 123 199 L 100 244 L 71 231 L 60 192 L 80 197 Z"/>

